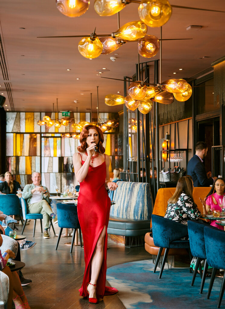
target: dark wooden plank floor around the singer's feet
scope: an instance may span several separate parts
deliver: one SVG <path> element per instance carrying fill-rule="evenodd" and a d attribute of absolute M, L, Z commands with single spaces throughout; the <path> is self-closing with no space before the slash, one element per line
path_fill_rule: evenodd
<path fill-rule="evenodd" d="M 17 225 L 20 235 L 22 226 Z M 54 224 L 56 233 L 58 226 Z M 105 296 L 99 304 L 91 304 L 79 296 L 84 272 L 84 251 L 80 246 L 64 245 L 71 237 L 61 237 L 57 251 L 57 237 L 50 230 L 50 239 L 43 239 L 40 222 L 36 224 L 35 237 L 32 237 L 33 220 L 26 226 L 24 235 L 28 240 L 36 241 L 36 246 L 21 251 L 21 260 L 26 263 L 23 276 L 32 279 L 32 283 L 23 289 L 32 309 L 125 309 L 117 294 Z M 64 230 L 63 230 L 64 232 Z M 107 251 L 107 267 L 135 260 L 151 259 L 144 247 L 116 248 L 110 246 Z M 116 287 L 116 286 L 115 286 Z"/>

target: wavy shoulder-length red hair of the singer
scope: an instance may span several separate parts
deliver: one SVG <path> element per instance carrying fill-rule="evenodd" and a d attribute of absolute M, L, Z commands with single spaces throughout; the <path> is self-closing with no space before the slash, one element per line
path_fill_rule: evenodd
<path fill-rule="evenodd" d="M 89 129 L 95 129 L 98 132 L 99 142 L 97 147 L 100 154 L 103 154 L 105 152 L 105 148 L 102 146 L 104 142 L 104 136 L 102 130 L 99 127 L 96 127 L 95 125 L 85 125 L 83 127 L 82 132 L 80 133 L 80 146 L 77 147 L 77 150 L 79 152 L 84 152 L 87 149 L 86 138 L 88 136 Z"/>

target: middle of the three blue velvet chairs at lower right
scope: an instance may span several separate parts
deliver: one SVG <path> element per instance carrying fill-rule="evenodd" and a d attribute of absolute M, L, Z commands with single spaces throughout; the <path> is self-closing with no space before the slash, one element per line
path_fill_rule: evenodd
<path fill-rule="evenodd" d="M 201 287 L 200 287 L 200 294 L 202 294 L 202 290 L 204 287 L 204 283 L 206 280 L 206 274 L 208 270 L 208 263 L 206 259 L 206 248 L 205 248 L 205 241 L 204 241 L 204 227 L 206 225 L 203 223 L 199 223 L 197 221 L 188 221 L 188 235 L 189 235 L 189 242 L 190 242 L 190 249 L 191 254 L 197 257 L 194 273 L 191 281 L 191 286 L 193 286 L 195 277 L 197 274 L 197 269 L 199 269 L 200 276 L 202 277 Z M 205 260 L 204 269 L 202 274 L 202 265 L 201 260 Z"/>

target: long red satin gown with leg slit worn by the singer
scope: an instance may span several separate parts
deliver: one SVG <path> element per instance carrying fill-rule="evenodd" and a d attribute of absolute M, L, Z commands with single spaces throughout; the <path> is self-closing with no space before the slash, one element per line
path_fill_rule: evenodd
<path fill-rule="evenodd" d="M 81 159 L 82 160 L 82 159 Z M 85 161 L 82 160 L 83 165 Z M 80 183 L 80 191 L 77 203 L 77 213 L 81 226 L 84 243 L 85 271 L 82 287 L 79 289 L 81 296 L 87 296 L 86 287 L 91 280 L 91 259 L 97 240 L 106 226 L 104 242 L 104 257 L 96 286 L 97 298 L 104 295 L 112 295 L 117 289 L 105 286 L 106 257 L 107 257 L 107 227 L 110 211 L 110 198 L 105 188 L 106 163 L 105 161 L 92 167 L 89 165 L 87 176 Z"/>

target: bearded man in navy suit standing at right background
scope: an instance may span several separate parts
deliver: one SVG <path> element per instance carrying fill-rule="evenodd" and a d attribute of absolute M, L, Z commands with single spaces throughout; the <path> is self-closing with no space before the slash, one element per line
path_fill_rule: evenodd
<path fill-rule="evenodd" d="M 205 142 L 197 142 L 195 155 L 188 162 L 187 174 L 192 177 L 194 187 L 209 187 L 216 177 L 212 173 L 206 173 L 203 159 L 206 157 L 208 147 Z"/>

